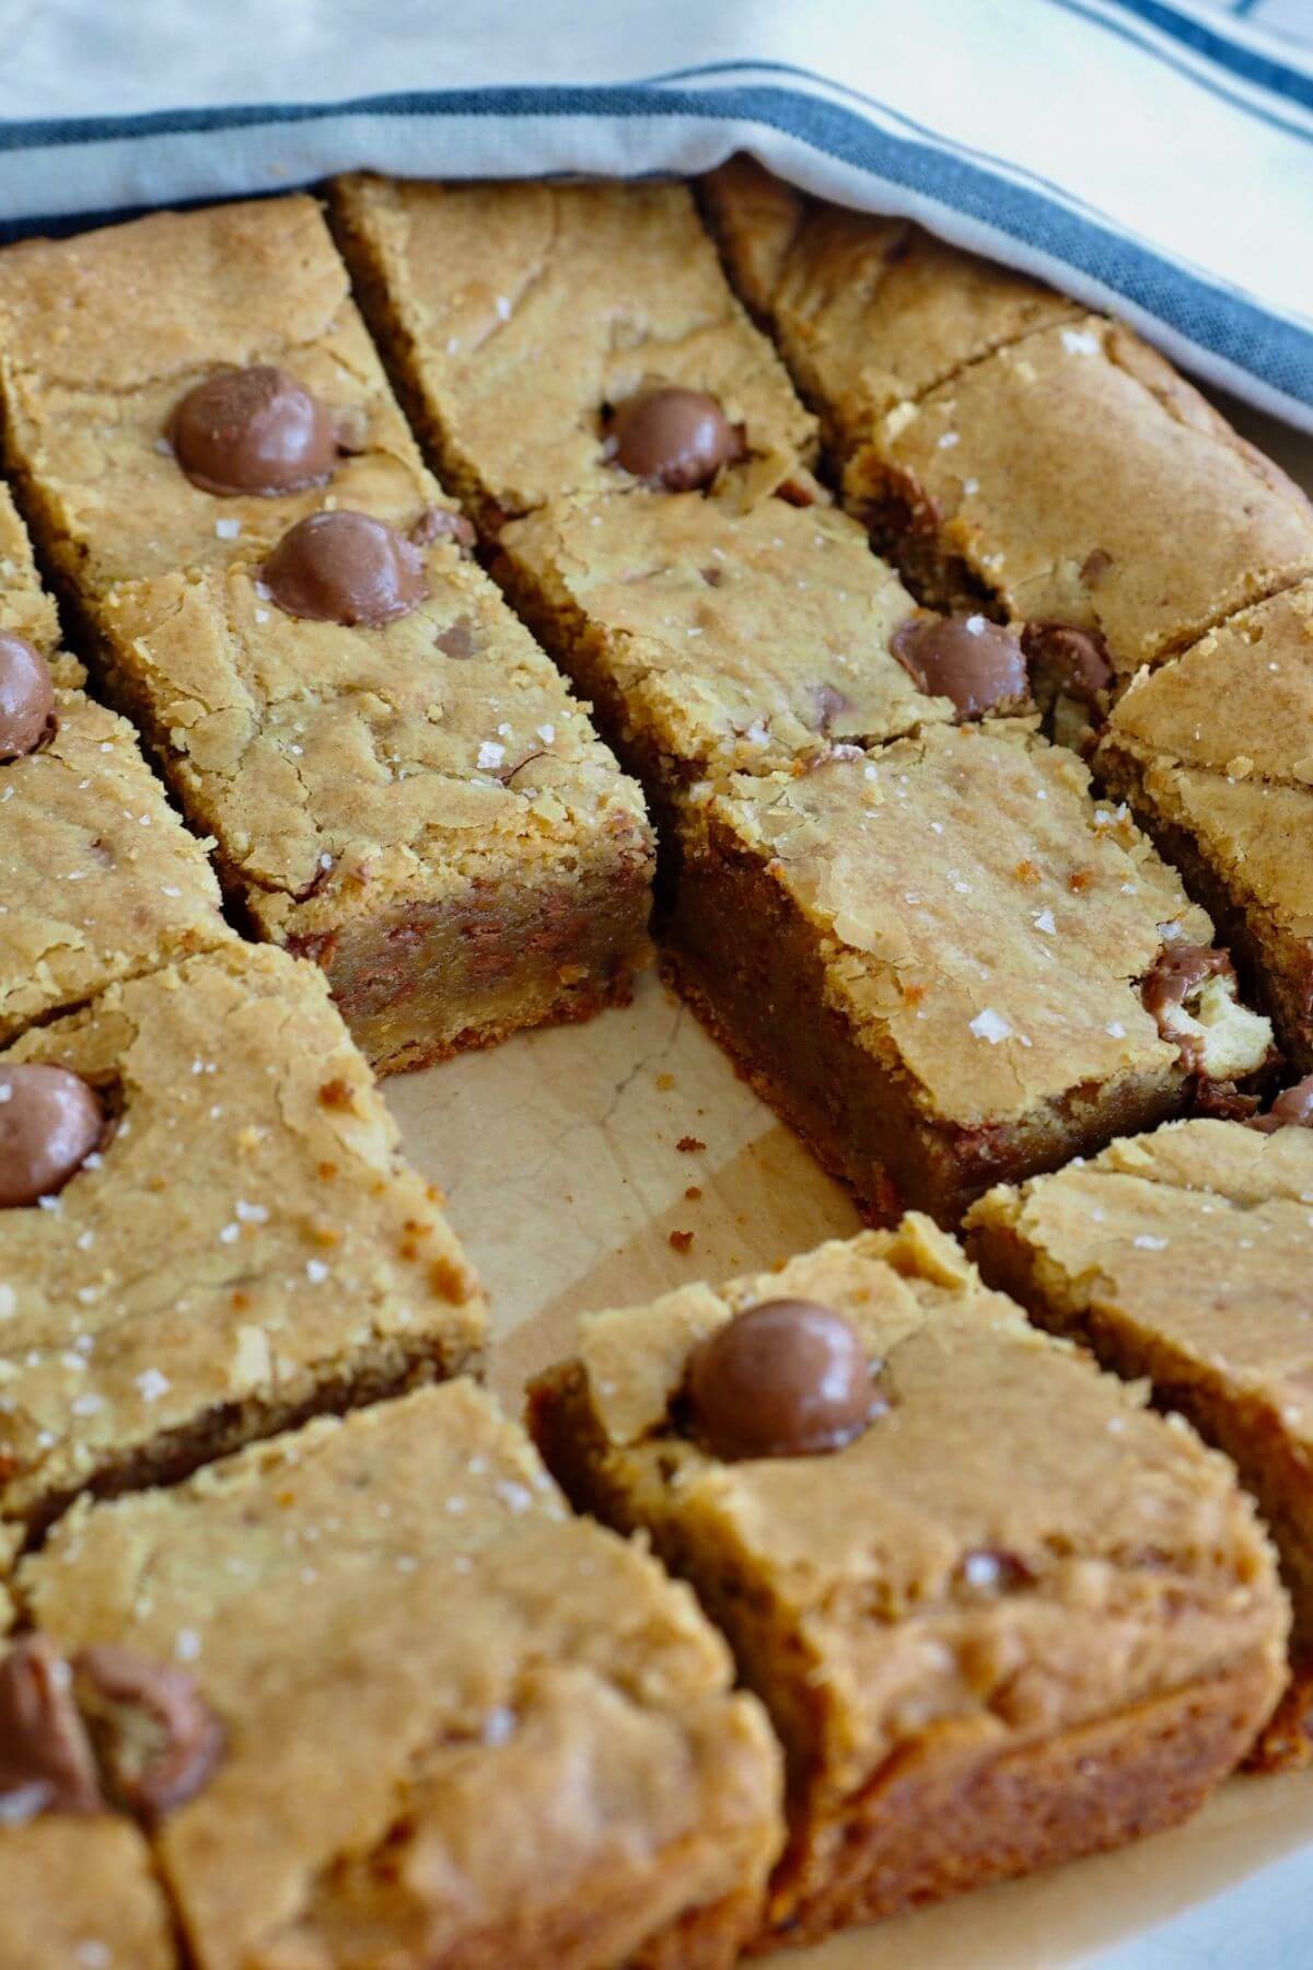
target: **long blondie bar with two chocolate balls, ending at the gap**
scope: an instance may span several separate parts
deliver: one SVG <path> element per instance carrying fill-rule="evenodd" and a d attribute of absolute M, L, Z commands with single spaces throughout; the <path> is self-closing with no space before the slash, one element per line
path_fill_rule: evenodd
<path fill-rule="evenodd" d="M 624 997 L 642 800 L 465 559 L 315 203 L 0 254 L 0 341 L 10 461 L 110 693 L 374 1064 Z"/>

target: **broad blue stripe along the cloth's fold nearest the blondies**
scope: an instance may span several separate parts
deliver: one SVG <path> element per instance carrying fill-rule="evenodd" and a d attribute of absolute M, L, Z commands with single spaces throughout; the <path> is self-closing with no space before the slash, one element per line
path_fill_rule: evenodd
<path fill-rule="evenodd" d="M 256 124 L 325 122 L 343 116 L 610 116 L 654 118 L 693 116 L 711 122 L 758 122 L 799 138 L 872 177 L 915 191 L 939 207 L 959 211 L 982 225 L 1033 246 L 1055 262 L 1079 268 L 1112 294 L 1142 307 L 1199 349 L 1211 349 L 1270 388 L 1313 406 L 1313 331 L 1280 321 L 1189 268 L 1177 266 L 1148 246 L 1126 238 L 1104 221 L 1071 211 L 1051 195 L 1014 183 L 988 165 L 955 156 L 919 138 L 878 128 L 856 110 L 819 100 L 801 91 L 772 85 L 695 89 L 474 89 L 445 93 L 406 93 L 366 97 L 335 104 L 230 106 L 205 110 L 150 112 L 126 118 L 79 118 L 77 122 L 22 126 L 22 142 L 150 136 L 171 132 L 213 132 Z M 14 128 L 0 132 L 0 146 Z M 16 148 L 16 146 L 14 146 Z M 104 219 L 104 215 L 98 215 Z M 37 230 L 33 223 L 26 230 Z"/>

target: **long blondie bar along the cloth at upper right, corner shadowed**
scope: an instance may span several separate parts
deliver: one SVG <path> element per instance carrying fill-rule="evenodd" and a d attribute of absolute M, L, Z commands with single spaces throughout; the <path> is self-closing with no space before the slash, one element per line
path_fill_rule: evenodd
<path fill-rule="evenodd" d="M 1303 492 L 1130 329 L 738 162 L 707 205 L 844 502 L 923 601 L 1026 624 L 1051 688 L 1128 678 L 1313 569 Z"/>

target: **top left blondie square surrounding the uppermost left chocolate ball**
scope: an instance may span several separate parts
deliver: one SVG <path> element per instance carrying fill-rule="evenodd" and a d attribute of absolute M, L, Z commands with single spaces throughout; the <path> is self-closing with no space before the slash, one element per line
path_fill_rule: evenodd
<path fill-rule="evenodd" d="M 327 410 L 323 471 L 276 496 L 205 491 L 173 449 L 179 404 L 260 364 Z M 402 530 L 443 504 L 303 195 L 6 248 L 0 392 L 10 471 L 83 607 L 118 581 L 250 558 L 325 500 Z"/>

